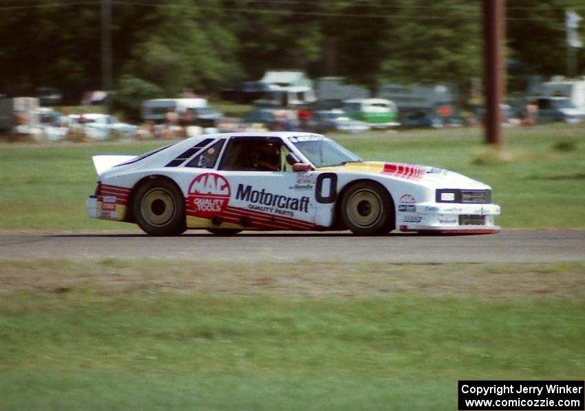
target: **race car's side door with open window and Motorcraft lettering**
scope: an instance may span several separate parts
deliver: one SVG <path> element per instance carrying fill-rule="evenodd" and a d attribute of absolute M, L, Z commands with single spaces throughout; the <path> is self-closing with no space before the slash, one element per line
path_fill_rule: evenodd
<path fill-rule="evenodd" d="M 293 173 L 287 154 L 278 137 L 230 139 L 217 167 L 229 191 L 226 221 L 259 230 L 315 227 L 315 173 Z"/>

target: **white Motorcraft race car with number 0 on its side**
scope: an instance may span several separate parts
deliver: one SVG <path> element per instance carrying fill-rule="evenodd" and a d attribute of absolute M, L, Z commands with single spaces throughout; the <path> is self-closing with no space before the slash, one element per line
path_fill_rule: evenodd
<path fill-rule="evenodd" d="M 312 133 L 202 135 L 139 157 L 93 157 L 89 216 L 154 236 L 188 229 L 500 231 L 489 186 L 429 166 L 363 162 Z"/>

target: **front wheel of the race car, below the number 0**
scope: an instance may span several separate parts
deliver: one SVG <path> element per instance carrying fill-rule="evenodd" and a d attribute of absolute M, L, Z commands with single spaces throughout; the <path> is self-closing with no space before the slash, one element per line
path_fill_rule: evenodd
<path fill-rule="evenodd" d="M 372 181 L 354 184 L 341 199 L 341 219 L 360 236 L 379 236 L 394 230 L 394 202 Z"/>

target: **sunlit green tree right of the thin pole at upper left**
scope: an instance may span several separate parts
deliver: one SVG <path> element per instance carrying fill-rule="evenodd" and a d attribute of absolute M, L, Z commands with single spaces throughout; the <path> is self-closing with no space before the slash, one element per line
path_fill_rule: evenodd
<path fill-rule="evenodd" d="M 237 41 L 221 23 L 219 3 L 167 1 L 151 14 L 152 25 L 140 38 L 136 34 L 123 74 L 156 85 L 168 96 L 184 88 L 215 89 L 237 76 Z"/>

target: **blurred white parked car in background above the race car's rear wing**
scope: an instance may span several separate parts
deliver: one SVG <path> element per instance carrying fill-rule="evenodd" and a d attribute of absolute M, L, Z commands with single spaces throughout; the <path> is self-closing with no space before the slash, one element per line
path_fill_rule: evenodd
<path fill-rule="evenodd" d="M 120 122 L 113 115 L 100 113 L 72 114 L 69 116 L 70 126 L 81 131 L 85 137 L 94 140 L 107 140 L 112 137 L 134 137 L 138 126 Z"/>

